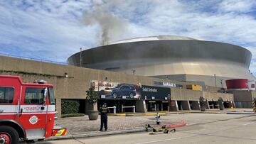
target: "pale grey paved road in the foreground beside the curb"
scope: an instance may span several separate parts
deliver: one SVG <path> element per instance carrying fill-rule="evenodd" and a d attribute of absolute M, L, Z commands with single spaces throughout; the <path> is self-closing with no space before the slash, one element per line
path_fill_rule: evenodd
<path fill-rule="evenodd" d="M 188 113 L 171 115 L 188 122 L 188 126 L 176 128 L 176 133 L 129 133 L 103 137 L 79 138 L 71 140 L 44 141 L 41 144 L 81 144 L 81 143 L 256 143 L 255 115 L 228 115 Z M 104 133 L 104 132 L 102 132 Z"/>

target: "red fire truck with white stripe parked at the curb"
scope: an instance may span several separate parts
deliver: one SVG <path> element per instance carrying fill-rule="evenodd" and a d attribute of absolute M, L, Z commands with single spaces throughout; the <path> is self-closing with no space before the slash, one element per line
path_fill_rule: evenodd
<path fill-rule="evenodd" d="M 18 76 L 0 75 L 0 144 L 66 135 L 65 128 L 54 125 L 54 113 L 52 84 L 25 84 Z"/>

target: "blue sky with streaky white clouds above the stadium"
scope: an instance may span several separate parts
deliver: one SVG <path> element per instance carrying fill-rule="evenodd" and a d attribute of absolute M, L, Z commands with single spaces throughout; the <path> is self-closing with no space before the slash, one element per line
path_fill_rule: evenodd
<path fill-rule="evenodd" d="M 102 35 L 183 35 L 247 48 L 256 74 L 255 10 L 255 0 L 1 0 L 0 53 L 65 62 Z"/>

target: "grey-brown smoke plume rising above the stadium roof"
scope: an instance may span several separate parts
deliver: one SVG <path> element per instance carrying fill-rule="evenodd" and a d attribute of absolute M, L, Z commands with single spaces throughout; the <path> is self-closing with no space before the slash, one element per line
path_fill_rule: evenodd
<path fill-rule="evenodd" d="M 118 40 L 127 28 L 127 21 L 111 11 L 119 5 L 119 2 L 92 1 L 92 11 L 83 13 L 82 22 L 85 23 L 85 26 L 95 24 L 100 26 L 101 45 L 107 45 L 114 40 Z"/>

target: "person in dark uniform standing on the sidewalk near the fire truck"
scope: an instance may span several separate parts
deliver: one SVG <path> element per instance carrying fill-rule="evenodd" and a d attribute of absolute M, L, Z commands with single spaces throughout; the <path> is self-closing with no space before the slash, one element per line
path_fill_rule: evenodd
<path fill-rule="evenodd" d="M 107 113 L 110 113 L 110 109 L 107 108 L 107 104 L 104 103 L 102 107 L 100 107 L 100 131 L 102 131 L 103 125 L 105 131 L 107 131 Z"/>

